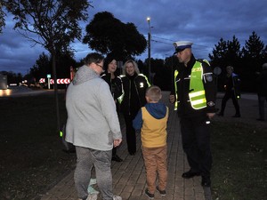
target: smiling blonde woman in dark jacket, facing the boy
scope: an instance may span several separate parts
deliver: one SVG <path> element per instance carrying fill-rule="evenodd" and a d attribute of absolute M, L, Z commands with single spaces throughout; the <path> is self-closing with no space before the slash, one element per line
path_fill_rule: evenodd
<path fill-rule="evenodd" d="M 121 111 L 125 117 L 126 141 L 130 155 L 136 153 L 136 135 L 133 127 L 133 120 L 140 108 L 145 103 L 145 92 L 150 86 L 148 78 L 139 72 L 134 60 L 127 60 L 123 66 L 123 94 L 120 97 Z"/>

